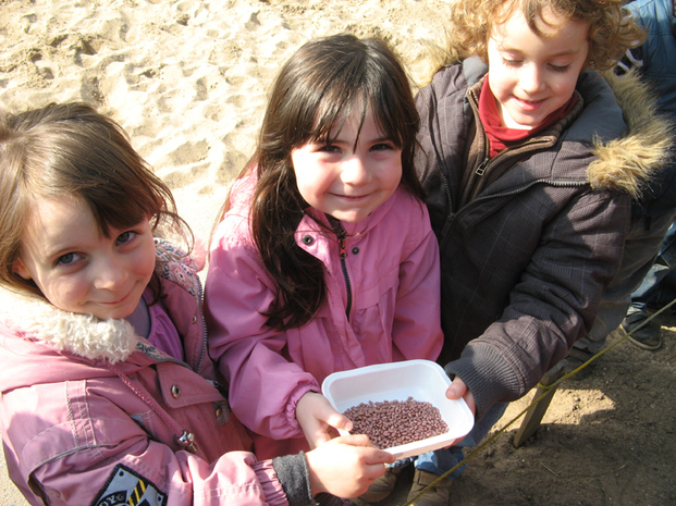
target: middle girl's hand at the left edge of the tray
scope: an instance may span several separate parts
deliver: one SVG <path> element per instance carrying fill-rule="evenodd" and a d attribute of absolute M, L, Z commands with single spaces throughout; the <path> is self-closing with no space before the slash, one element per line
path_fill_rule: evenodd
<path fill-rule="evenodd" d="M 330 441 L 334 435 L 331 434 L 332 428 L 346 431 L 352 429 L 349 419 L 333 409 L 329 400 L 316 392 L 308 392 L 300 397 L 296 405 L 296 420 L 310 448 Z"/>

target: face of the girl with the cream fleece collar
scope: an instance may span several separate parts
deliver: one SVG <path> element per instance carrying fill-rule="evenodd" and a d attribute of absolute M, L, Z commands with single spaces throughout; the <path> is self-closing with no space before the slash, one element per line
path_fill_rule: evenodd
<path fill-rule="evenodd" d="M 106 238 L 83 201 L 42 199 L 13 269 L 59 309 L 101 320 L 126 318 L 155 269 L 152 230 L 144 220 L 131 230 L 111 229 Z"/>

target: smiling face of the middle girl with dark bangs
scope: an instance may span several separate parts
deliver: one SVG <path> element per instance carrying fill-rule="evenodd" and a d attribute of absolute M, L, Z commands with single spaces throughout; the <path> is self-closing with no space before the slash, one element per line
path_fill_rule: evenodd
<path fill-rule="evenodd" d="M 291 152 L 303 198 L 349 223 L 366 219 L 402 181 L 402 150 L 380 132 L 370 108 L 357 140 L 358 129 L 353 113 L 341 132 L 331 132 L 331 144 L 310 141 Z"/>

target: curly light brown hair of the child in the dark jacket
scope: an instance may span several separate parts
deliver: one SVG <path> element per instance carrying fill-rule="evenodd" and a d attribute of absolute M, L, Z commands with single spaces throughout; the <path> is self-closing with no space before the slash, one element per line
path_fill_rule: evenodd
<path fill-rule="evenodd" d="M 586 69 L 613 67 L 627 49 L 639 46 L 646 38 L 622 0 L 463 0 L 451 8 L 443 63 L 475 54 L 486 61 L 493 27 L 516 11 L 521 11 L 532 32 L 541 35 L 538 25 L 546 23 L 543 12 L 548 10 L 566 20 L 589 24 Z"/>

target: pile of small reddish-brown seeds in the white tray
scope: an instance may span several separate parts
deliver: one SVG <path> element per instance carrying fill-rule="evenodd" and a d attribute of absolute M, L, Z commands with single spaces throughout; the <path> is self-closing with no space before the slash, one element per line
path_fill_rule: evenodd
<path fill-rule="evenodd" d="M 382 403 L 369 400 L 353 406 L 343 415 L 353 423 L 351 434 L 366 434 L 379 448 L 391 448 L 448 431 L 438 408 L 413 397 Z"/>

